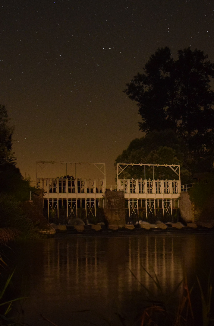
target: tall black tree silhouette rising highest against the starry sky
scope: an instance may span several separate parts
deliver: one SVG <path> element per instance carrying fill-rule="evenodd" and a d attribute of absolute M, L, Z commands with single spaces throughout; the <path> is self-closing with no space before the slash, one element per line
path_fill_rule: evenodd
<path fill-rule="evenodd" d="M 211 167 L 214 158 L 214 64 L 207 58 L 188 48 L 175 60 L 169 48 L 158 49 L 124 90 L 137 102 L 140 130 L 172 129 L 187 143 L 199 170 Z"/>

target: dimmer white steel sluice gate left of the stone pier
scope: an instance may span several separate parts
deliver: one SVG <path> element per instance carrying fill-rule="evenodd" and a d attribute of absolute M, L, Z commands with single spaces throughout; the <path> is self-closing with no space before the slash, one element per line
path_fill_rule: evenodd
<path fill-rule="evenodd" d="M 46 202 L 49 214 L 59 217 L 59 204 L 64 206 L 66 202 L 67 218 L 78 216 L 78 208 L 85 209 L 86 218 L 89 215 L 96 216 L 98 201 L 103 199 L 106 191 L 106 166 L 105 163 L 73 163 L 73 162 L 36 162 L 42 169 L 45 163 L 75 164 L 75 176 L 77 164 L 91 164 L 102 174 L 103 179 L 81 178 L 37 178 L 37 185 L 44 190 L 44 203 Z M 37 176 L 37 171 L 36 171 Z"/>

